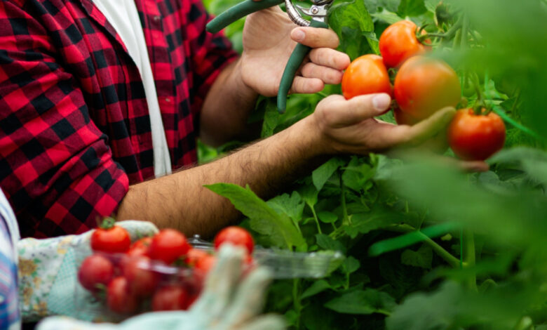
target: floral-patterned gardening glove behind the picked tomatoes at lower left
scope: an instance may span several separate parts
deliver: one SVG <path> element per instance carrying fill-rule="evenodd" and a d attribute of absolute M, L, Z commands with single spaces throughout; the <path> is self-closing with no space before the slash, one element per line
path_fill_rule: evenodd
<path fill-rule="evenodd" d="M 126 220 L 124 227 L 131 241 L 158 232 L 153 223 Z M 19 253 L 19 301 L 24 322 L 34 322 L 48 315 L 76 316 L 77 256 L 89 255 L 93 230 L 81 235 L 50 239 L 22 239 Z"/>

